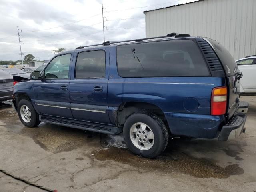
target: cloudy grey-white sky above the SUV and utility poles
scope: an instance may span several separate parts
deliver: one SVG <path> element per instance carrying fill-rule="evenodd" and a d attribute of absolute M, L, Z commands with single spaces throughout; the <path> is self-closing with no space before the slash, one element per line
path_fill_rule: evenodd
<path fill-rule="evenodd" d="M 102 3 L 107 26 L 105 40 L 145 37 L 144 10 L 194 0 L 0 0 L 0 60 L 20 60 L 17 26 L 23 57 L 48 60 L 60 47 L 103 42 Z"/>

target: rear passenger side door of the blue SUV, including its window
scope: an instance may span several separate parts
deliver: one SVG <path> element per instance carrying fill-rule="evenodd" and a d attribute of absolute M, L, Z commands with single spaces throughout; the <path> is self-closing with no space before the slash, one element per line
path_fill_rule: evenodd
<path fill-rule="evenodd" d="M 109 47 L 74 54 L 70 80 L 70 108 L 78 120 L 109 123 L 108 63 Z"/>

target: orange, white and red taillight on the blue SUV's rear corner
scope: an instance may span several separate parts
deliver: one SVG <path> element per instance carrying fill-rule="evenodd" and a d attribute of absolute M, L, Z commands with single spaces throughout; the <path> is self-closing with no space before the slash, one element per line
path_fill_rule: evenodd
<path fill-rule="evenodd" d="M 223 115 L 227 107 L 227 87 L 216 87 L 212 90 L 211 115 Z"/>

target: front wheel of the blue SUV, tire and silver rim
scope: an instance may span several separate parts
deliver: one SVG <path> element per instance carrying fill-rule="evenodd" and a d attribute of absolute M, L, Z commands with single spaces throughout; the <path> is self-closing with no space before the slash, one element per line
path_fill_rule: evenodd
<path fill-rule="evenodd" d="M 26 127 L 36 127 L 40 124 L 39 115 L 31 102 L 26 99 L 22 99 L 18 103 L 18 116 Z"/>

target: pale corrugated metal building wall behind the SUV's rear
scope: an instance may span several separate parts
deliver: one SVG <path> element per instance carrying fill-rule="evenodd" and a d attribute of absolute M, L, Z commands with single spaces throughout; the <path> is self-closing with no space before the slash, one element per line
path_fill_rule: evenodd
<path fill-rule="evenodd" d="M 204 0 L 145 15 L 146 37 L 188 33 L 217 40 L 235 60 L 256 54 L 256 0 Z"/>

